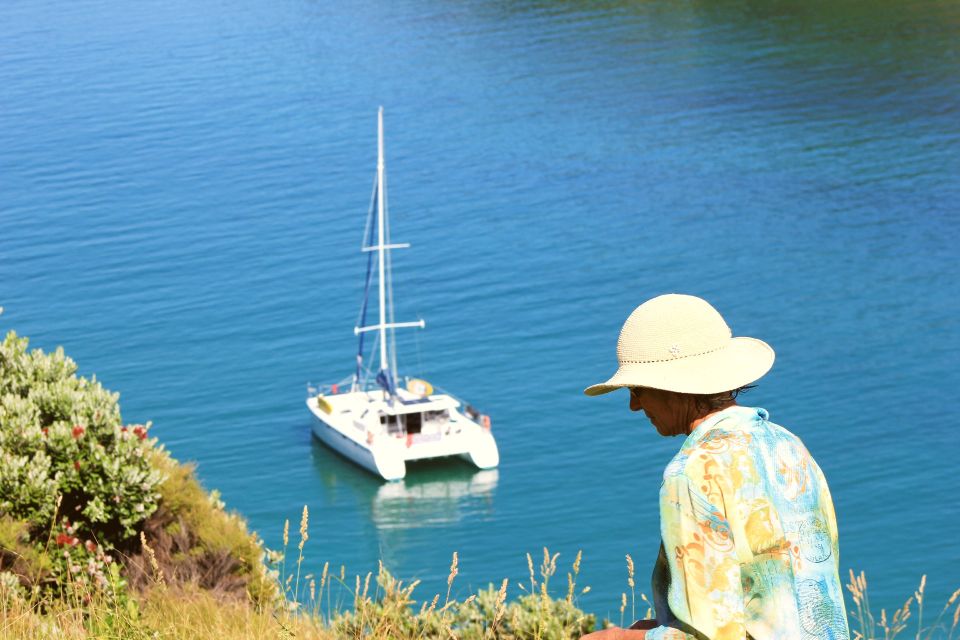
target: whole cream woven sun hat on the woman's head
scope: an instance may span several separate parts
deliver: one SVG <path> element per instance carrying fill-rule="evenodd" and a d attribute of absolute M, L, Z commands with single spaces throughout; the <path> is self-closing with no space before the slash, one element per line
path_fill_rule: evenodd
<path fill-rule="evenodd" d="M 634 309 L 620 330 L 620 368 L 588 396 L 621 387 L 680 393 L 720 393 L 761 378 L 773 366 L 773 349 L 755 338 L 734 338 L 706 300 L 667 294 Z"/>

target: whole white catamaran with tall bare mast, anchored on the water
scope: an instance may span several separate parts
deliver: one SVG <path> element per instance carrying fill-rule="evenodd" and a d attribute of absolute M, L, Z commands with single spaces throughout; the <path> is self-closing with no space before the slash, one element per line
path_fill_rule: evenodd
<path fill-rule="evenodd" d="M 406 475 L 413 460 L 460 456 L 481 469 L 500 462 L 490 419 L 446 393 L 434 392 L 424 380 L 397 377 L 394 330 L 423 328 L 424 321 L 395 322 L 390 251 L 408 244 L 390 243 L 383 157 L 383 107 L 377 116 L 377 180 L 367 214 L 362 251 L 367 276 L 360 319 L 356 371 L 340 384 L 320 389 L 308 386 L 307 407 L 314 415 L 313 432 L 334 451 L 386 480 Z M 380 318 L 366 324 L 373 257 L 377 257 Z M 379 369 L 364 363 L 364 337 L 375 332 L 372 351 L 379 346 Z M 401 384 L 402 383 L 402 384 Z M 348 390 L 347 390 L 348 388 Z"/>

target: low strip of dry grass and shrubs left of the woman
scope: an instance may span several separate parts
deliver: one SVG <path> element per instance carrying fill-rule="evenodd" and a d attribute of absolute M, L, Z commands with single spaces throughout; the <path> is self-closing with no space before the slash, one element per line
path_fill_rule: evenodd
<path fill-rule="evenodd" d="M 413 597 L 417 582 L 405 585 L 382 566 L 376 576 L 355 576 L 352 587 L 343 571 L 337 575 L 325 571 L 319 583 L 305 576 L 304 601 L 282 600 L 274 608 L 254 607 L 236 599 L 225 601 L 196 587 L 172 588 L 160 570 L 154 574 L 151 588 L 138 598 L 104 590 L 88 601 L 69 595 L 30 599 L 22 592 L 5 590 L 0 582 L 0 639 L 578 638 L 591 631 L 596 620 L 574 603 L 575 577 L 566 598 L 550 595 L 548 581 L 556 570 L 556 559 L 556 555 L 547 555 L 541 567 L 542 581 L 532 579 L 535 592 L 512 602 L 507 602 L 506 580 L 499 589 L 490 585 L 463 601 L 451 599 L 456 555 L 442 603 L 439 594 L 418 603 Z M 295 586 L 292 580 L 285 583 L 289 594 Z"/>

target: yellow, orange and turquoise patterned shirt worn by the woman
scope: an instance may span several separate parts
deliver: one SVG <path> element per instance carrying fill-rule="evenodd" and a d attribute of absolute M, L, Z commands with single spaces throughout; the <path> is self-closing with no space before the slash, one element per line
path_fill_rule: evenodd
<path fill-rule="evenodd" d="M 849 640 L 827 481 L 767 417 L 724 409 L 667 465 L 648 640 Z"/>

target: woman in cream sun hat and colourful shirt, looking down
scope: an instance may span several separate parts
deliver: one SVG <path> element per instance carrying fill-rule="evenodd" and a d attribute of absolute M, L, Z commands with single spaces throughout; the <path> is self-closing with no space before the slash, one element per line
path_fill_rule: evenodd
<path fill-rule="evenodd" d="M 705 300 L 653 298 L 620 331 L 617 372 L 586 390 L 628 388 L 631 410 L 686 437 L 660 489 L 656 620 L 590 640 L 849 638 L 827 482 L 766 410 L 737 405 L 774 353 L 732 336 Z"/>

